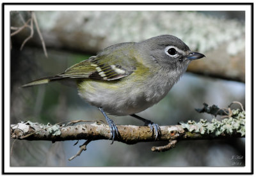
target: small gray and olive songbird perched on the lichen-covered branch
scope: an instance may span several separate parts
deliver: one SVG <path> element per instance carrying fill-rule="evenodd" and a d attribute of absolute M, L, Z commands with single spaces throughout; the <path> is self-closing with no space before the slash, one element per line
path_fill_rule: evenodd
<path fill-rule="evenodd" d="M 108 115 L 132 116 L 150 127 L 157 139 L 160 127 L 136 113 L 157 104 L 179 81 L 191 61 L 204 58 L 173 35 L 161 35 L 141 42 L 111 45 L 63 73 L 42 77 L 22 87 L 53 81 L 75 82 L 79 96 L 99 108 L 110 128 L 110 138 L 118 128 Z"/>

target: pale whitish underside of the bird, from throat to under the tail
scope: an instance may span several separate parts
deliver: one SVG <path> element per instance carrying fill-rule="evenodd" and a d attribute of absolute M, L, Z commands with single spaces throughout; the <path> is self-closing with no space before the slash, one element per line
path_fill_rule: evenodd
<path fill-rule="evenodd" d="M 130 79 L 124 78 L 122 82 L 89 80 L 78 84 L 78 91 L 86 102 L 102 107 L 108 114 L 127 116 L 157 104 L 184 71 L 175 74 L 163 74 L 164 72 L 159 71 L 150 81 L 131 81 L 132 75 L 128 76 Z"/>

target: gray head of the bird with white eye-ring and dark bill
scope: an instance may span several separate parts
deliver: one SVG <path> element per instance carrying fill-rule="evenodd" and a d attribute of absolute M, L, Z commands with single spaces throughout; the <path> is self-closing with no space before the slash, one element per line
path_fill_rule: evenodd
<path fill-rule="evenodd" d="M 136 45 L 143 58 L 167 68 L 183 68 L 188 66 L 191 60 L 204 57 L 203 54 L 191 52 L 186 43 L 172 35 L 156 36 Z"/>

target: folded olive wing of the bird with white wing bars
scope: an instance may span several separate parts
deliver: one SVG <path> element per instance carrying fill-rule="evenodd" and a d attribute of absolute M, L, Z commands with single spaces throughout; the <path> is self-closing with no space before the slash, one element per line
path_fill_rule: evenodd
<path fill-rule="evenodd" d="M 136 60 L 131 51 L 132 43 L 120 43 L 104 49 L 97 56 L 92 56 L 68 68 L 58 75 L 70 79 L 97 79 L 111 81 L 130 75 L 136 69 Z"/>

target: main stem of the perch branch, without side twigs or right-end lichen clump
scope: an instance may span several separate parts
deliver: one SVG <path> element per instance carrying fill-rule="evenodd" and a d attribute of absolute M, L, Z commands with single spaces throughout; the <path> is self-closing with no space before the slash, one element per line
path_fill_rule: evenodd
<path fill-rule="evenodd" d="M 217 121 L 216 119 L 214 119 Z M 232 133 L 221 132 L 221 134 L 209 134 L 203 125 L 206 121 L 195 123 L 189 121 L 182 123 L 182 125 L 168 125 L 160 126 L 161 135 L 157 137 L 156 141 L 169 141 L 172 139 L 220 139 L 228 137 L 244 137 L 244 135 L 237 134 L 236 131 Z M 214 127 L 213 123 L 209 123 Z M 209 127 L 210 127 L 209 126 Z M 116 141 L 124 142 L 126 144 L 135 144 L 137 142 L 155 141 L 154 135 L 150 132 L 149 127 L 134 126 L 134 125 L 117 125 L 119 136 Z M 200 129 L 201 128 L 201 129 Z M 232 127 L 234 129 L 234 127 Z M 197 130 L 197 132 L 196 132 Z M 234 129 L 235 130 L 235 129 Z M 42 125 L 39 123 L 31 123 L 30 121 L 17 123 L 11 125 L 11 137 L 13 139 L 26 139 L 29 141 L 44 140 L 44 141 L 68 141 L 80 139 L 109 139 L 109 126 L 99 121 L 94 123 L 84 123 L 73 126 L 59 126 L 59 125 Z"/>

